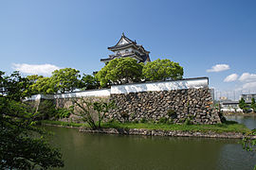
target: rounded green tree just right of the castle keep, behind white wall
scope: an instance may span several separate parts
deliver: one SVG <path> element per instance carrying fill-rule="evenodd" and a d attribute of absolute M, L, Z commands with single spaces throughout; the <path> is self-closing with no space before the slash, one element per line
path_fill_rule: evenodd
<path fill-rule="evenodd" d="M 146 63 L 142 74 L 147 80 L 176 80 L 182 78 L 183 67 L 170 59 L 156 59 Z"/>

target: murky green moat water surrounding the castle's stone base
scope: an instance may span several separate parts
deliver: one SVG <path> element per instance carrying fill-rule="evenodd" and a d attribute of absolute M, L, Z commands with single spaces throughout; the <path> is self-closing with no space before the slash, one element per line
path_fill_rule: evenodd
<path fill-rule="evenodd" d="M 254 117 L 228 117 L 256 127 Z M 254 127 L 253 127 L 254 125 Z M 76 128 L 46 127 L 51 143 L 64 154 L 64 168 L 251 170 L 256 155 L 242 149 L 240 140 L 88 134 Z"/>

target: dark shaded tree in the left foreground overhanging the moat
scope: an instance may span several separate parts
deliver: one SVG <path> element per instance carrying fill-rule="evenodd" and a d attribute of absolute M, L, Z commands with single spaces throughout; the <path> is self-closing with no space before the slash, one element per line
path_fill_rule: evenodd
<path fill-rule="evenodd" d="M 0 169 L 62 167 L 62 154 L 46 142 L 46 132 L 35 127 L 35 114 L 21 102 L 29 80 L 14 72 L 0 72 Z"/>

